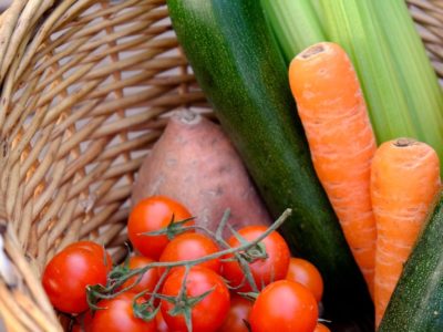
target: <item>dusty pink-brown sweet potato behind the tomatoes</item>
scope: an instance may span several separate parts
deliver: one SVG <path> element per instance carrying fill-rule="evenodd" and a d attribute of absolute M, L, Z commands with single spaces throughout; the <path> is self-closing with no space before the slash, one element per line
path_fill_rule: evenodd
<path fill-rule="evenodd" d="M 190 111 L 178 111 L 143 162 L 132 204 L 151 195 L 183 203 L 198 225 L 216 230 L 225 209 L 235 228 L 271 218 L 222 128 Z M 225 230 L 225 235 L 228 235 Z"/>

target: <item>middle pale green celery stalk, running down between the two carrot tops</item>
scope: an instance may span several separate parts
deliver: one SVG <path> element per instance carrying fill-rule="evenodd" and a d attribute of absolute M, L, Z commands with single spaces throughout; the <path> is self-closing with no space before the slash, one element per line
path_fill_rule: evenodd
<path fill-rule="evenodd" d="M 388 40 L 367 0 L 322 0 L 329 39 L 352 59 L 380 142 L 416 137 Z"/>

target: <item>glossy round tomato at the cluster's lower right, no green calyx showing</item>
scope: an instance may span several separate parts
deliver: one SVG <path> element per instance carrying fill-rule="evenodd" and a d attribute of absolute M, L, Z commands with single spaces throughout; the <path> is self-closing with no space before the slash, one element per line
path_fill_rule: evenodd
<path fill-rule="evenodd" d="M 316 298 L 305 286 L 289 280 L 267 286 L 249 317 L 253 332 L 312 332 L 317 319 Z"/>

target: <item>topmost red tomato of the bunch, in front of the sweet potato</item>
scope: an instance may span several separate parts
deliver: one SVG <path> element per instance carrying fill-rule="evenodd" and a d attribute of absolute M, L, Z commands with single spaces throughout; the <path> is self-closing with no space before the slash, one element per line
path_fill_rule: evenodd
<path fill-rule="evenodd" d="M 132 209 L 127 221 L 127 235 L 134 248 L 143 256 L 158 260 L 168 243 L 167 237 L 142 234 L 165 228 L 169 225 L 173 216 L 175 221 L 192 217 L 183 205 L 165 196 L 152 196 L 141 200 Z M 193 224 L 189 221 L 187 225 Z"/>

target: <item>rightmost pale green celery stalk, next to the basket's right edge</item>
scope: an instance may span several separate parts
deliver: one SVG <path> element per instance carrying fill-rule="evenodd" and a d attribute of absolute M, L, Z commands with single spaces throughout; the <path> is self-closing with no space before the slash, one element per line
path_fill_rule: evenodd
<path fill-rule="evenodd" d="M 400 73 L 409 115 L 419 139 L 426 142 L 443 159 L 443 93 L 414 22 L 403 0 L 373 0 L 390 52 Z"/>

